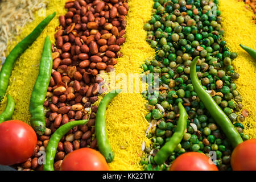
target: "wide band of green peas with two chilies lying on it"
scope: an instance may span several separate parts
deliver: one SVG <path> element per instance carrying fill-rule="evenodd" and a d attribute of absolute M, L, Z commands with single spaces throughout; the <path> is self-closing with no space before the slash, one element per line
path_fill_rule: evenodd
<path fill-rule="evenodd" d="M 151 123 L 147 137 L 152 147 L 146 147 L 146 158 L 141 164 L 145 170 L 168 170 L 177 156 L 188 151 L 203 152 L 207 156 L 215 151 L 213 162 L 220 170 L 232 170 L 230 157 L 232 146 L 220 126 L 197 97 L 189 77 L 192 59 L 197 62 L 197 76 L 205 90 L 228 115 L 243 140 L 243 115 L 234 111 L 242 109 L 242 97 L 236 90 L 234 80 L 239 75 L 232 61 L 237 53 L 230 52 L 221 35 L 221 12 L 218 0 L 154 0 L 151 20 L 144 24 L 147 42 L 155 48 L 154 60 L 145 60 L 142 65 L 154 93 L 143 92 L 150 111 L 146 119 Z M 214 3 L 214 4 L 213 4 Z M 158 73 L 159 77 L 154 77 Z M 158 84 L 157 84 L 158 83 Z M 187 130 L 166 162 L 156 165 L 154 156 L 175 132 L 181 102 L 188 113 Z"/>

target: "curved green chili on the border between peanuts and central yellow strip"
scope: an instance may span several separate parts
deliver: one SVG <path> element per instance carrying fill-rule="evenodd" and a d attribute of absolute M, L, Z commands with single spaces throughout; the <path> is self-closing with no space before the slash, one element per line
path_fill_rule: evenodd
<path fill-rule="evenodd" d="M 106 107 L 109 102 L 117 96 L 122 90 L 115 90 L 114 93 L 110 92 L 106 94 L 106 96 L 101 100 L 98 105 L 98 111 L 96 114 L 96 122 L 95 122 L 95 133 L 97 138 L 98 148 L 102 155 L 104 155 L 106 162 L 110 163 L 114 159 L 114 152 L 111 149 L 109 144 L 109 138 L 106 133 L 106 121 L 105 121 L 105 112 Z"/>

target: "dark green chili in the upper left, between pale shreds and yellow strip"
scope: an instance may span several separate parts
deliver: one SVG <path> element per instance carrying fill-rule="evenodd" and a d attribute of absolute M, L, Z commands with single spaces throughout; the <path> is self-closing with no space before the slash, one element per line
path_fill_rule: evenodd
<path fill-rule="evenodd" d="M 47 16 L 38 26 L 31 32 L 30 35 L 26 36 L 22 41 L 20 41 L 14 48 L 11 50 L 9 56 L 6 57 L 5 63 L 0 71 L 0 101 L 3 96 L 5 96 L 9 78 L 11 76 L 11 71 L 13 70 L 14 63 L 16 59 L 29 47 L 31 44 L 39 37 L 41 32 L 46 28 L 46 26 L 51 22 L 51 20 L 56 15 L 56 12 Z"/>

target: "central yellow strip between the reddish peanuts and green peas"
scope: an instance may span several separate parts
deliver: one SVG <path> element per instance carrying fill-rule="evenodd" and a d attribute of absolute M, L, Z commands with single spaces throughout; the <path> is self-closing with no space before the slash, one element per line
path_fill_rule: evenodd
<path fill-rule="evenodd" d="M 127 15 L 126 42 L 121 48 L 122 58 L 115 66 L 115 75 L 123 73 L 141 73 L 141 64 L 145 59 L 154 57 L 155 51 L 146 42 L 144 23 L 151 18 L 152 0 L 129 0 Z M 117 84 L 118 81 L 115 81 Z M 127 84 L 128 86 L 128 84 Z M 110 103 L 106 111 L 106 126 L 110 145 L 115 152 L 115 158 L 109 164 L 112 170 L 141 170 L 139 164 L 142 155 L 142 142 L 146 138 L 148 122 L 146 101 L 140 93 L 121 93 Z"/>

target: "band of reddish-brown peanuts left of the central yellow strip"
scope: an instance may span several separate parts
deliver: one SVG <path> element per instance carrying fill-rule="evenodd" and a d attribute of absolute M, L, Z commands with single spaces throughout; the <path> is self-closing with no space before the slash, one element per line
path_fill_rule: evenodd
<path fill-rule="evenodd" d="M 54 168 L 59 170 L 69 152 L 81 147 L 97 147 L 95 118 L 101 82 L 99 73 L 110 72 L 117 64 L 125 42 L 126 0 L 67 1 L 68 13 L 60 16 L 60 26 L 52 45 L 53 69 L 46 101 L 46 132 L 38 136 L 34 154 L 18 167 L 42 170 L 39 151 L 45 151 L 51 134 L 67 122 L 89 119 L 74 127 L 59 142 Z M 91 113 L 89 115 L 89 112 Z"/>

